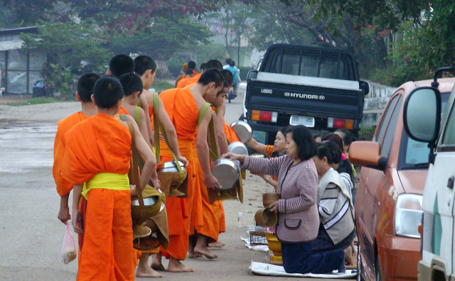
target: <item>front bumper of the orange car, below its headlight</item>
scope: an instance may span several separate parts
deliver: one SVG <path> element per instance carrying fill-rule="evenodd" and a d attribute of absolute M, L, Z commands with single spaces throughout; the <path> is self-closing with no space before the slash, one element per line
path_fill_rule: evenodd
<path fill-rule="evenodd" d="M 417 280 L 417 263 L 420 260 L 420 239 L 383 236 L 378 244 L 384 280 Z"/>

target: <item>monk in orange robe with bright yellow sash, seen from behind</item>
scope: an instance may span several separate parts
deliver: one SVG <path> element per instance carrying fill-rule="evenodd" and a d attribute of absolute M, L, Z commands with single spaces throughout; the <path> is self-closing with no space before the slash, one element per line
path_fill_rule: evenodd
<path fill-rule="evenodd" d="M 112 76 L 102 77 L 93 92 L 98 113 L 65 134 L 61 171 L 62 177 L 73 183 L 73 228 L 85 236 L 77 280 L 134 280 L 131 196 L 135 190 L 130 188 L 127 175 L 132 137 L 127 123 L 113 118 L 122 103 L 122 84 Z M 139 187 L 144 189 L 156 158 L 137 125 L 132 124 L 136 148 L 144 159 Z M 87 198 L 83 230 L 77 224 L 81 194 Z"/>

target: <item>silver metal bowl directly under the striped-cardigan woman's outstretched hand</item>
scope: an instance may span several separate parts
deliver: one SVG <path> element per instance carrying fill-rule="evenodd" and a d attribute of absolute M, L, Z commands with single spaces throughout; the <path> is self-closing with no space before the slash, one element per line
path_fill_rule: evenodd
<path fill-rule="evenodd" d="M 229 159 L 218 159 L 210 164 L 212 175 L 221 184 L 220 190 L 229 190 L 237 184 L 240 168 Z"/>

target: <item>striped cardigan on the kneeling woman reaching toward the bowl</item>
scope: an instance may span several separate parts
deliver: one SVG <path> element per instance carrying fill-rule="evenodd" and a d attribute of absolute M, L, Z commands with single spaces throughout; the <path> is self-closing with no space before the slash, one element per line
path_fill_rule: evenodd
<path fill-rule="evenodd" d="M 278 207 L 277 238 L 285 243 L 302 243 L 316 239 L 319 212 L 316 207 L 319 177 L 313 159 L 292 165 L 287 155 L 279 158 L 245 156 L 242 168 L 278 177 L 281 194 Z"/>

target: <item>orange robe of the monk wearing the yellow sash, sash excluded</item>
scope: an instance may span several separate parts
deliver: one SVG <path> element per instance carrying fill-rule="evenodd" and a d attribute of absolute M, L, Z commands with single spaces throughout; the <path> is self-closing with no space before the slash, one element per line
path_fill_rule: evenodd
<path fill-rule="evenodd" d="M 132 138 L 119 121 L 96 114 L 75 125 L 65 138 L 61 175 L 68 182 L 82 184 L 106 172 L 128 173 Z M 77 280 L 134 280 L 129 190 L 90 190 L 84 236 Z"/>

